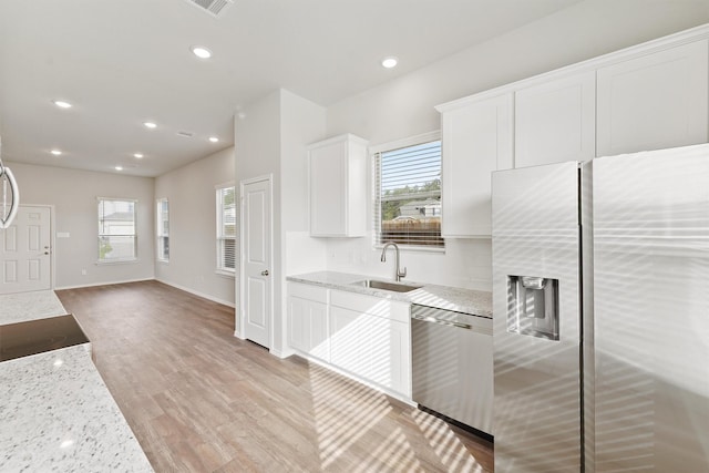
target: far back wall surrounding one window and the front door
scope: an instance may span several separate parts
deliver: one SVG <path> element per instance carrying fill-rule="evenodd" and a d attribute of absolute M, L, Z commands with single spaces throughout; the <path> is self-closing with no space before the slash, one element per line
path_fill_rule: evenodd
<path fill-rule="evenodd" d="M 56 289 L 154 278 L 153 178 L 20 163 L 7 165 L 18 181 L 20 203 L 53 205 L 54 230 L 70 234 L 69 238 L 56 238 L 53 247 Z M 96 264 L 96 197 L 137 200 L 137 261 Z"/>

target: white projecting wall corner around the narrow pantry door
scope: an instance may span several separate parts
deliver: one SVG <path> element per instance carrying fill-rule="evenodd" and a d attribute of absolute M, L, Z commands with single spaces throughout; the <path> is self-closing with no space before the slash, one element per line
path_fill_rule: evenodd
<path fill-rule="evenodd" d="M 306 145 L 320 140 L 325 127 L 323 107 L 285 90 L 246 106 L 235 122 L 237 181 L 273 176 L 274 313 L 269 348 L 278 356 L 288 354 L 284 351 L 286 276 L 325 267 L 325 243 L 307 233 L 306 167 Z M 244 336 L 238 309 L 237 333 Z"/>

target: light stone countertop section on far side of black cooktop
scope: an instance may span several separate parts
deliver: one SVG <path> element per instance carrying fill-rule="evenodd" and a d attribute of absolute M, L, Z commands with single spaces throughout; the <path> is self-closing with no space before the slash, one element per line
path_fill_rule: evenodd
<path fill-rule="evenodd" d="M 66 315 L 53 290 L 0 296 L 0 326 Z"/>

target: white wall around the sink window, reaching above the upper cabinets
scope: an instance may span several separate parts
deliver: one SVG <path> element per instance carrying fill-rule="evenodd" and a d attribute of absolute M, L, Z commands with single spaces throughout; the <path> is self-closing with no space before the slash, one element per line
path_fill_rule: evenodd
<path fill-rule="evenodd" d="M 586 0 L 329 106 L 328 135 L 379 145 L 439 130 L 436 104 L 708 21 L 707 1 Z M 370 241 L 331 239 L 327 268 L 391 276 Z M 404 253 L 402 263 L 410 280 L 490 290 L 491 254 L 490 239 L 449 239 L 445 255 Z"/>

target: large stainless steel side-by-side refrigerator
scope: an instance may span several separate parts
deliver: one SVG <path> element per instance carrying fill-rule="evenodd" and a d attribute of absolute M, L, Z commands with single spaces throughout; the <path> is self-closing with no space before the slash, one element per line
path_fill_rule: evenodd
<path fill-rule="evenodd" d="M 709 145 L 493 175 L 495 472 L 709 471 Z"/>

